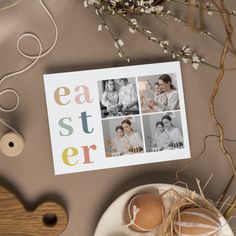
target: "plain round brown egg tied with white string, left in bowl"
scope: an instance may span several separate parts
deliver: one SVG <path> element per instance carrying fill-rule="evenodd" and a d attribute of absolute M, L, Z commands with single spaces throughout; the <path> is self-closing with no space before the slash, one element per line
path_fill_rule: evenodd
<path fill-rule="evenodd" d="M 139 232 L 156 229 L 163 220 L 163 202 L 156 194 L 134 196 L 127 207 L 129 226 Z"/>

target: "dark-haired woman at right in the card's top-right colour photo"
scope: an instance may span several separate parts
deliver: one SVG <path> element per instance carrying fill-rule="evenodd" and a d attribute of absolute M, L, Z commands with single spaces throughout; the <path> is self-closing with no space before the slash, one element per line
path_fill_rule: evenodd
<path fill-rule="evenodd" d="M 165 111 L 179 110 L 179 95 L 175 86 L 172 84 L 172 79 L 169 75 L 164 74 L 158 78 L 160 90 L 165 93 L 167 97 L 167 105 Z"/>

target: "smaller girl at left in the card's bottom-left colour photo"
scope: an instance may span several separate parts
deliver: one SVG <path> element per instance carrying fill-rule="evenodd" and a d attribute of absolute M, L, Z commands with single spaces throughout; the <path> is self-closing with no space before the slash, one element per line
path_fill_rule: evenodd
<path fill-rule="evenodd" d="M 112 143 L 112 150 L 119 153 L 120 155 L 128 153 L 129 151 L 128 140 L 124 135 L 122 126 L 120 125 L 116 127 L 116 136 Z"/>

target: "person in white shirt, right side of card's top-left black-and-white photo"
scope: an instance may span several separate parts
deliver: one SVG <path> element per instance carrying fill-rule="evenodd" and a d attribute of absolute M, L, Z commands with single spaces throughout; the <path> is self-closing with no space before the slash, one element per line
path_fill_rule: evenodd
<path fill-rule="evenodd" d="M 119 89 L 119 108 L 123 113 L 138 113 L 138 96 L 136 87 L 127 78 L 118 80 Z"/>

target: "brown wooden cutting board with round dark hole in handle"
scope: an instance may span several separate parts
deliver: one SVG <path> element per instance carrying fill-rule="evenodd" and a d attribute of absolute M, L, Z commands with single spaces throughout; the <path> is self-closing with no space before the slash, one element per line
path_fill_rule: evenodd
<path fill-rule="evenodd" d="M 67 213 L 59 204 L 46 202 L 29 211 L 0 186 L 0 236 L 56 236 L 67 223 Z"/>

